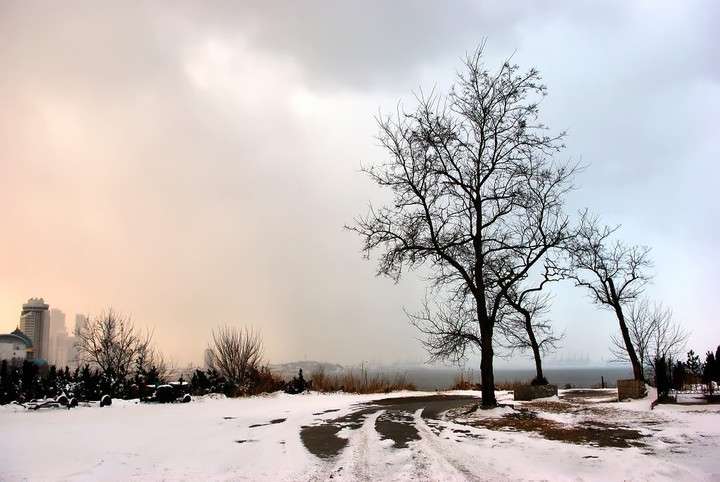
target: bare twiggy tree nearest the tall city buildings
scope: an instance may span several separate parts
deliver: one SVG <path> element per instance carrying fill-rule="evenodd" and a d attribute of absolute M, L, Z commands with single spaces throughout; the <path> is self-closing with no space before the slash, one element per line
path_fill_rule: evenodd
<path fill-rule="evenodd" d="M 77 338 L 81 360 L 119 380 L 127 377 L 138 359 L 151 351 L 152 334 L 141 332 L 130 317 L 112 308 L 86 323 Z"/>

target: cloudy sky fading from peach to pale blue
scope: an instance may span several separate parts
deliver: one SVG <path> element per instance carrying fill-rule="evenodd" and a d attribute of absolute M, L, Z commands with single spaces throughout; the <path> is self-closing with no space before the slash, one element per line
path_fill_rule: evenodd
<path fill-rule="evenodd" d="M 587 165 L 569 198 L 652 248 L 647 296 L 704 353 L 720 344 L 720 4 L 0 2 L 0 332 L 44 297 L 112 306 L 176 363 L 218 326 L 271 362 L 422 362 L 403 307 L 343 225 L 387 194 L 378 112 L 446 91 L 486 39 L 548 86 L 542 119 Z M 617 331 L 553 288 L 558 356 Z M 530 366 L 525 359 L 506 363 Z"/>

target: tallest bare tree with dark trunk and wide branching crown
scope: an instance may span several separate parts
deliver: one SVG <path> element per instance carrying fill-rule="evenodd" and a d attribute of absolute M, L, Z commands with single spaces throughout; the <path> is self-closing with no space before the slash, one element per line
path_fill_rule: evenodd
<path fill-rule="evenodd" d="M 382 248 L 378 274 L 428 268 L 445 308 L 412 321 L 433 357 L 479 349 L 485 407 L 496 405 L 493 335 L 505 293 L 567 232 L 575 166 L 552 161 L 564 134 L 549 136 L 538 121 L 545 92 L 537 70 L 508 61 L 490 72 L 477 49 L 448 95 L 421 93 L 415 110 L 378 119 L 390 159 L 364 171 L 394 199 L 350 227 L 366 256 Z"/>

